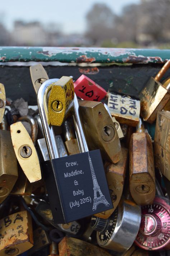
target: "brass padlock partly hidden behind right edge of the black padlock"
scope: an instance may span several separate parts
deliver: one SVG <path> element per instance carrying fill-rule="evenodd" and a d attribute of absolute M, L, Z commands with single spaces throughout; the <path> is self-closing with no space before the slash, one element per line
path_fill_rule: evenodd
<path fill-rule="evenodd" d="M 116 164 L 107 161 L 104 164 L 113 209 L 95 214 L 99 218 L 109 218 L 121 200 L 128 161 L 128 149 L 125 147 L 122 147 L 122 156 L 122 159 Z"/>

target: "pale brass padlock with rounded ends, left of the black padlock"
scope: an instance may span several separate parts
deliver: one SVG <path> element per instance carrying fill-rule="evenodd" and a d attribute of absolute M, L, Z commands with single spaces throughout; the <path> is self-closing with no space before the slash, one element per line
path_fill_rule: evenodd
<path fill-rule="evenodd" d="M 15 155 L 29 182 L 41 180 L 41 169 L 36 148 L 21 122 L 10 125 Z"/>

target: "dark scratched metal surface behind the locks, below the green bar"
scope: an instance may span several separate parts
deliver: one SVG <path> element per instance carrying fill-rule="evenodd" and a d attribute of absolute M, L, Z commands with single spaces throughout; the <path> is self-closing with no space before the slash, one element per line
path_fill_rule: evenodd
<path fill-rule="evenodd" d="M 108 67 L 47 66 L 49 78 L 87 75 L 105 90 L 114 90 L 138 97 L 139 92 L 151 76 L 160 70 L 162 64 L 111 65 Z M 165 77 L 170 76 L 170 70 Z M 5 85 L 6 97 L 15 100 L 22 97 L 29 105 L 37 105 L 36 95 L 30 79 L 29 67 L 0 66 L 0 82 Z"/>

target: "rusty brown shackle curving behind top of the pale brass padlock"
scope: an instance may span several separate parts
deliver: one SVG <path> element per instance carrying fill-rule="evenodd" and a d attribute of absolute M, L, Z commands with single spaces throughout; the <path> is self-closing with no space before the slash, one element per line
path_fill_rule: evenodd
<path fill-rule="evenodd" d="M 38 133 L 38 124 L 35 118 L 33 118 L 33 116 L 31 115 L 24 115 L 21 116 L 20 118 L 18 118 L 19 121 L 25 121 L 28 122 L 31 126 L 31 139 L 34 143 L 34 145 L 36 145 L 37 142 L 37 133 Z"/>

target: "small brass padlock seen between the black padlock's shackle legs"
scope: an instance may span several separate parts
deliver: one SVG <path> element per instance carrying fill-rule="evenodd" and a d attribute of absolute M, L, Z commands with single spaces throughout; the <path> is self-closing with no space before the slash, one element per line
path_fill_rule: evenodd
<path fill-rule="evenodd" d="M 63 128 L 63 136 L 65 138 L 65 146 L 67 148 L 67 152 L 69 155 L 79 154 L 79 144 L 74 135 L 74 130 L 72 128 L 72 124 L 69 120 L 66 120 L 62 124 Z"/>

